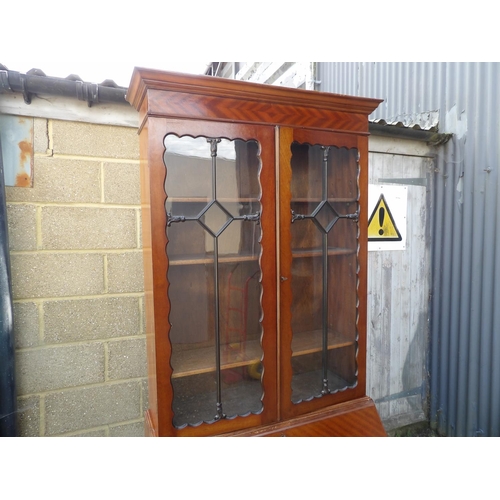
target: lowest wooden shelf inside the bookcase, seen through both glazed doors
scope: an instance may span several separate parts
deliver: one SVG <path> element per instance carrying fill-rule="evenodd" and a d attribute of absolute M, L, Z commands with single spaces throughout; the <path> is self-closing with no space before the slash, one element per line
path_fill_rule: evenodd
<path fill-rule="evenodd" d="M 353 340 L 338 332 L 328 333 L 328 349 L 338 349 L 352 345 Z M 320 352 L 322 346 L 322 332 L 302 332 L 295 334 L 292 342 L 293 356 L 301 356 Z M 221 368 L 227 370 L 240 366 L 250 366 L 259 363 L 262 358 L 262 348 L 259 340 L 250 340 L 241 343 L 226 344 L 221 347 Z M 215 372 L 214 347 L 199 349 L 185 349 L 172 354 L 172 378 L 200 375 Z"/>

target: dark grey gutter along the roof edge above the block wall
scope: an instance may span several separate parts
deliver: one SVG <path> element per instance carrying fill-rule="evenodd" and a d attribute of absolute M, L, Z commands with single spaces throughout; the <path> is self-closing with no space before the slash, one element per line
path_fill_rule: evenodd
<path fill-rule="evenodd" d="M 35 71 L 37 72 L 37 71 Z M 90 106 L 94 103 L 115 102 L 130 106 L 125 100 L 127 89 L 118 87 L 112 81 L 103 83 L 88 83 L 74 78 L 56 78 L 44 76 L 43 73 L 27 74 L 18 71 L 9 71 L 0 65 L 0 93 L 20 92 L 24 96 L 24 102 L 31 104 L 33 95 L 57 95 L 73 97 L 80 101 L 86 101 Z"/>

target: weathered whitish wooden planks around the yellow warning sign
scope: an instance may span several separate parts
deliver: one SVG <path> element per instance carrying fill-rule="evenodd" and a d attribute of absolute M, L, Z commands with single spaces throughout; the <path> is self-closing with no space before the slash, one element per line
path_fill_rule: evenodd
<path fill-rule="evenodd" d="M 398 154 L 390 145 L 376 145 L 386 152 L 370 154 L 371 184 L 428 176 L 432 159 L 407 142 L 407 154 L 401 144 Z M 423 156 L 412 155 L 415 151 Z M 367 390 L 388 428 L 425 416 L 421 393 L 426 384 L 430 279 L 428 189 L 407 185 L 406 248 L 369 252 L 368 257 Z"/>

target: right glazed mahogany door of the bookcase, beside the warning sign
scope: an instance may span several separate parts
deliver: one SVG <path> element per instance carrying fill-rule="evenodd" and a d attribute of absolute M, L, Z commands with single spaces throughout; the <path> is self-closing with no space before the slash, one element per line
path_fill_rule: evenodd
<path fill-rule="evenodd" d="M 364 394 L 359 158 L 357 137 L 281 131 L 282 418 Z"/>

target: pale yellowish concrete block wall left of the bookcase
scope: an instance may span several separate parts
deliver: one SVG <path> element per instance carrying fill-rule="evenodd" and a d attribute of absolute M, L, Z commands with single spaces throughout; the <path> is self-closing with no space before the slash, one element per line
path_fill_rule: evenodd
<path fill-rule="evenodd" d="M 7 188 L 21 436 L 142 436 L 139 140 L 33 120 L 32 188 Z"/>

